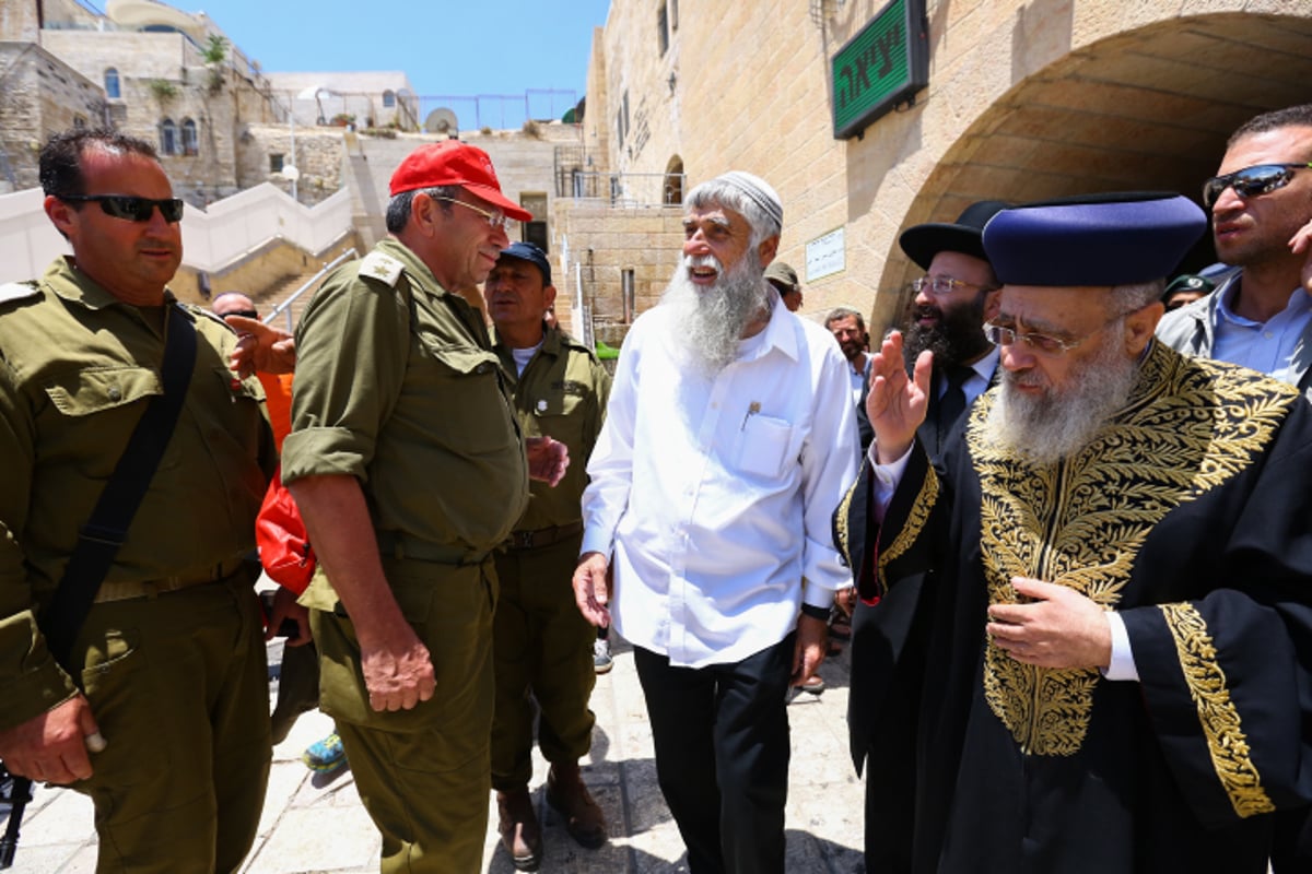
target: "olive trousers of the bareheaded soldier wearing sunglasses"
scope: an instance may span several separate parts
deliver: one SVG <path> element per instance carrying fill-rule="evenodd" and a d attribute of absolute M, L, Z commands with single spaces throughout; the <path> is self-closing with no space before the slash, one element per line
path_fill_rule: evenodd
<path fill-rule="evenodd" d="M 269 674 L 253 580 L 96 604 L 73 659 L 108 747 L 89 795 L 98 874 L 236 871 L 269 780 Z"/>

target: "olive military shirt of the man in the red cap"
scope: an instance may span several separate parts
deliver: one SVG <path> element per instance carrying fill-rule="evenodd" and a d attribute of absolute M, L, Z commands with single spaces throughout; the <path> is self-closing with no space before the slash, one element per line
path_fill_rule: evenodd
<path fill-rule="evenodd" d="M 509 380 L 483 321 L 398 240 L 344 265 L 297 326 L 282 480 L 352 476 L 374 527 L 487 552 L 529 495 Z"/>

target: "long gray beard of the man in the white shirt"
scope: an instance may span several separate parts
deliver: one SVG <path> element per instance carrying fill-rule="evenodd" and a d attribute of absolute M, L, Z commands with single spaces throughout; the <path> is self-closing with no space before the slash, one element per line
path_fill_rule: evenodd
<path fill-rule="evenodd" d="M 728 273 L 714 256 L 685 257 L 661 295 L 661 307 L 669 307 L 673 316 L 674 345 L 705 376 L 719 373 L 737 358 L 743 329 L 770 307 L 765 269 L 752 254 L 744 253 Z M 705 290 L 689 279 L 689 267 L 703 262 L 720 270 L 715 284 Z"/>

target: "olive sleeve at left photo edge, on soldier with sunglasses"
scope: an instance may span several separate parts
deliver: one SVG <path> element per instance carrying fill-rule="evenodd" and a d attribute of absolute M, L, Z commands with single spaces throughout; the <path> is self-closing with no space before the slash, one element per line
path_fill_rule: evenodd
<path fill-rule="evenodd" d="M 76 688 L 37 629 L 31 580 L 24 565 L 35 466 L 33 417 L 8 362 L 0 360 L 0 731 L 72 697 Z"/>

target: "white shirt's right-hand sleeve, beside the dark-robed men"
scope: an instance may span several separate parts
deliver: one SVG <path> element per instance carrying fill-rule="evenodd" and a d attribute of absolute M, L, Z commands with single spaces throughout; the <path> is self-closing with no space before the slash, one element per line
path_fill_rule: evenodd
<path fill-rule="evenodd" d="M 833 511 L 857 476 L 857 417 L 846 364 L 836 350 L 825 352 L 816 376 L 811 434 L 802 447 L 802 573 L 808 583 L 803 599 L 816 607 L 829 607 L 833 590 L 851 579 L 833 541 Z"/>

